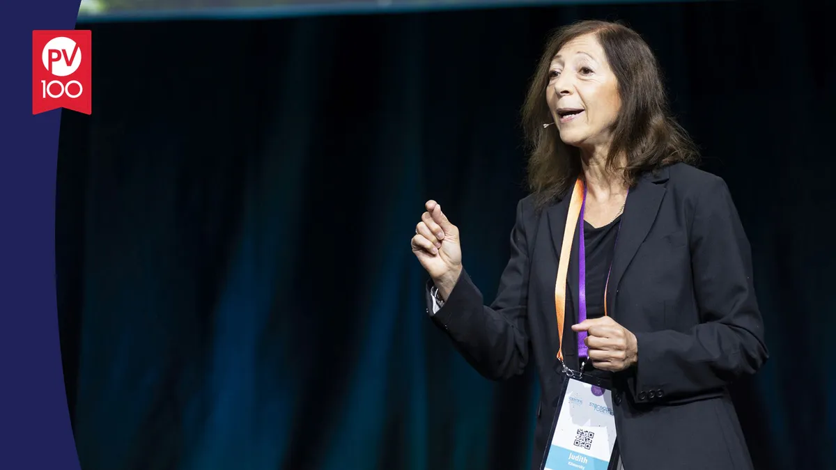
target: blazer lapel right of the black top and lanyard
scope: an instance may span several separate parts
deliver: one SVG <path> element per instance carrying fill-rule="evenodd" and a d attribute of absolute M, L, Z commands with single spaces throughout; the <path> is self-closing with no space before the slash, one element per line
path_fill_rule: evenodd
<path fill-rule="evenodd" d="M 621 216 L 619 238 L 615 245 L 613 270 L 610 273 L 607 288 L 607 310 L 610 314 L 618 315 L 614 306 L 619 283 L 656 220 L 656 214 L 659 212 L 662 197 L 665 197 L 666 191 L 665 186 L 660 183 L 667 179 L 667 168 L 663 168 L 656 174 L 646 174 L 640 178 L 627 196 L 627 204 Z"/>

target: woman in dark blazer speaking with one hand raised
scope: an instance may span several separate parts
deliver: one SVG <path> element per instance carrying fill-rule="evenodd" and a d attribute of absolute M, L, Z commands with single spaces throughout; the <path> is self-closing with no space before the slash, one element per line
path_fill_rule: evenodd
<path fill-rule="evenodd" d="M 431 277 L 432 319 L 493 380 L 522 373 L 531 346 L 542 384 L 535 468 L 563 364 L 611 381 L 627 470 L 752 468 L 726 389 L 767 360 L 750 248 L 724 181 L 692 166 L 696 151 L 670 118 L 650 48 L 617 23 L 561 29 L 523 115 L 531 194 L 517 205 L 511 258 L 490 306 L 462 267 L 458 229 L 426 203 L 411 244 Z M 583 200 L 574 219 L 583 258 L 571 232 L 579 227 L 567 227 L 573 197 Z M 565 233 L 573 241 L 564 245 Z M 564 298 L 555 294 L 558 274 Z M 583 363 L 579 333 L 589 348 Z"/>

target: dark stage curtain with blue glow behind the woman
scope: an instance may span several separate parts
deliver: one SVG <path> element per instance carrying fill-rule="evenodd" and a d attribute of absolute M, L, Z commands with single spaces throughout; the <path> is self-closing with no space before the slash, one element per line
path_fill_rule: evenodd
<path fill-rule="evenodd" d="M 84 470 L 525 467 L 536 377 L 466 365 L 426 318 L 409 242 L 436 198 L 492 298 L 528 76 L 548 30 L 579 18 L 644 34 L 703 167 L 731 186 L 772 354 L 735 386 L 757 468 L 834 468 L 823 9 L 84 25 L 94 110 L 64 111 L 56 247 Z"/>

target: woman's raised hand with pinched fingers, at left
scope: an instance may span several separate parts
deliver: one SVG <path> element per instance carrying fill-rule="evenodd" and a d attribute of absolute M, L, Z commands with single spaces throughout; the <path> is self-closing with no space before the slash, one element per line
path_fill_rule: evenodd
<path fill-rule="evenodd" d="M 412 253 L 430 274 L 441 298 L 447 299 L 461 274 L 461 245 L 459 229 L 435 201 L 426 202 L 426 212 L 415 227 Z"/>

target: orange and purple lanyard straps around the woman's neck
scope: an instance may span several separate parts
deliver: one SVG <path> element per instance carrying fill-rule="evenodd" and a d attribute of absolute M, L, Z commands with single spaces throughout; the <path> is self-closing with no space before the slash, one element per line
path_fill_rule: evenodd
<path fill-rule="evenodd" d="M 630 192 L 628 192 L 628 195 Z M 569 200 L 569 211 L 566 217 L 566 227 L 563 229 L 563 245 L 560 249 L 558 260 L 558 279 L 554 284 L 554 307 L 558 318 L 558 360 L 563 363 L 563 321 L 566 317 L 566 276 L 568 274 L 569 256 L 572 253 L 572 242 L 574 238 L 574 227 L 578 226 L 579 232 L 579 302 L 578 317 L 579 323 L 586 319 L 586 247 L 584 244 L 584 209 L 586 208 L 586 186 L 578 178 L 575 181 L 572 198 Z M 578 221 L 580 220 L 580 223 Z M 621 221 L 619 221 L 619 232 L 621 232 Z M 618 234 L 615 236 L 615 243 L 618 244 Z M 607 289 L 609 288 L 609 274 L 612 273 L 613 265 L 609 264 L 607 281 L 604 284 L 604 315 L 607 315 Z M 589 348 L 584 344 L 587 332 L 578 333 L 578 357 L 586 359 Z M 564 365 L 565 367 L 565 365 Z"/>

